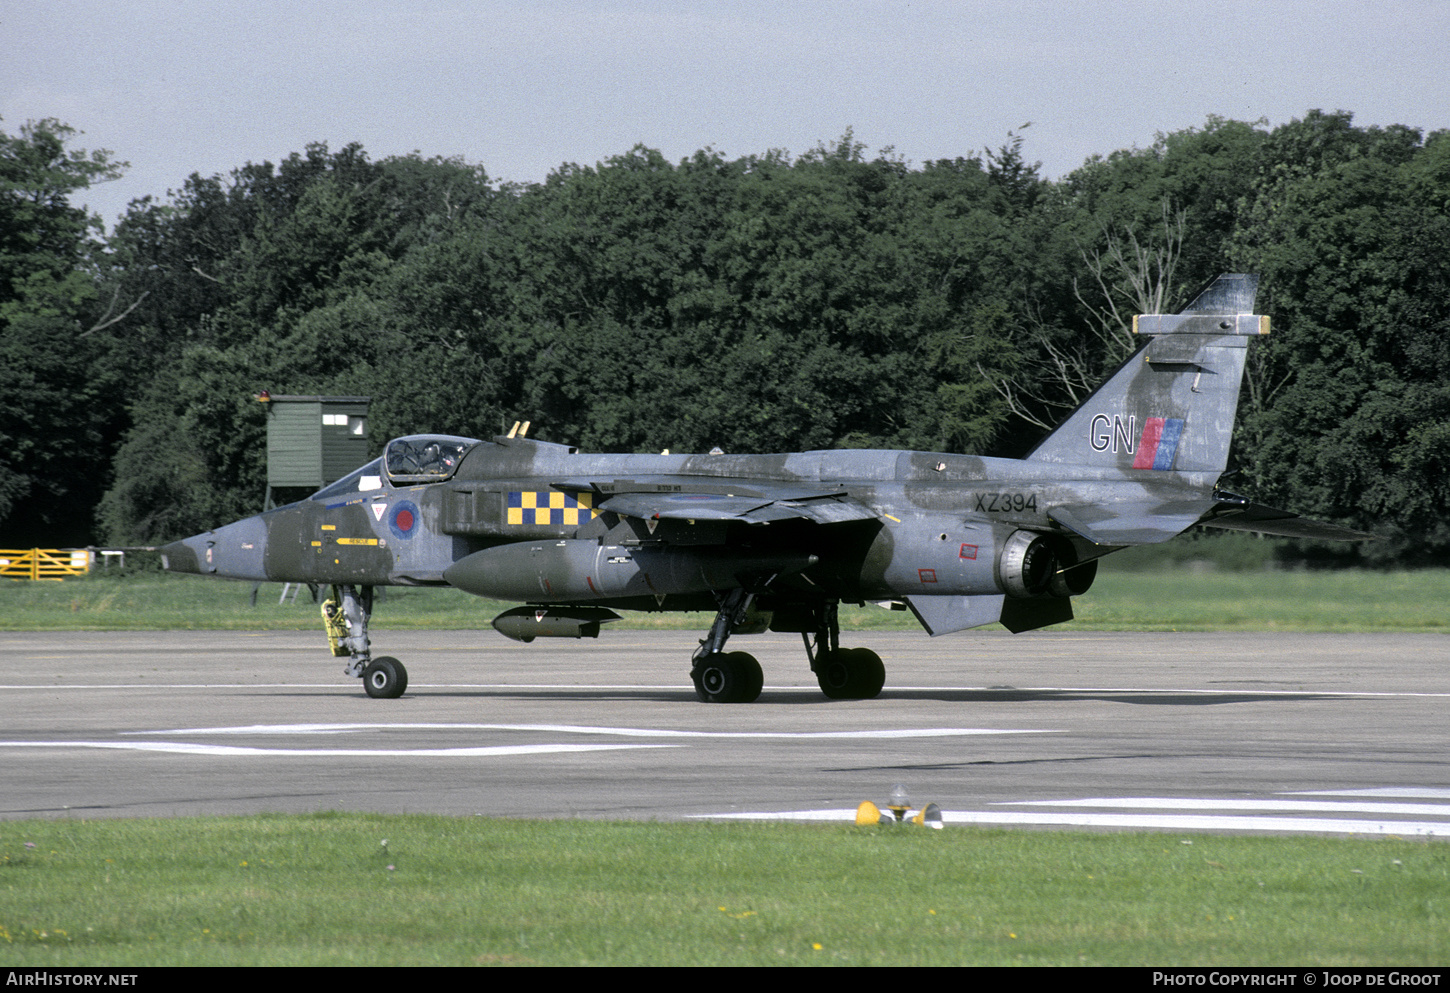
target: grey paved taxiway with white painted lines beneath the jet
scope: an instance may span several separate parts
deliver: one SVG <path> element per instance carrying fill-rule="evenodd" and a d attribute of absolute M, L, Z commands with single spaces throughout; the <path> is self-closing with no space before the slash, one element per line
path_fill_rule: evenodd
<path fill-rule="evenodd" d="M 0 818 L 821 819 L 902 783 L 948 823 L 1450 835 L 1443 635 L 860 633 L 856 702 L 741 636 L 742 706 L 696 702 L 693 632 L 374 635 L 400 700 L 313 633 L 3 633 Z"/>

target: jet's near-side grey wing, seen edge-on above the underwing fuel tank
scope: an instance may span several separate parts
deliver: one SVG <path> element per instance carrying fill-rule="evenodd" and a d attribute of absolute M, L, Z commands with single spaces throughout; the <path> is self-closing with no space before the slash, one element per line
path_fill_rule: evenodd
<path fill-rule="evenodd" d="M 616 493 L 597 503 L 599 510 L 645 520 L 742 520 L 770 523 L 803 519 L 831 525 L 844 520 L 871 520 L 877 515 L 844 493 L 782 489 L 755 484 L 754 496 L 731 493 Z"/>

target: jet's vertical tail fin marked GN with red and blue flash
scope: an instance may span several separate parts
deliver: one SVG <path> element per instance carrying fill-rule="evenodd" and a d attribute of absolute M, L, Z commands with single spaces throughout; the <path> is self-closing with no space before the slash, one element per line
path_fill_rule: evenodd
<path fill-rule="evenodd" d="M 1132 319 L 1147 342 L 1027 457 L 1122 470 L 1222 473 L 1259 277 L 1225 274 L 1180 313 Z"/>

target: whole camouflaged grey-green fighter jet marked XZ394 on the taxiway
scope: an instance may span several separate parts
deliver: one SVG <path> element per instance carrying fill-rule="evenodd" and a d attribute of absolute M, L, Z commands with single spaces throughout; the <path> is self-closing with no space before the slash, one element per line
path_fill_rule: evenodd
<path fill-rule="evenodd" d="M 165 568 L 331 584 L 345 671 L 397 697 L 407 671 L 370 654 L 378 586 L 454 586 L 528 606 L 518 641 L 594 638 L 615 609 L 708 610 L 690 664 L 700 700 L 745 703 L 760 662 L 731 635 L 799 632 L 829 697 L 874 697 L 880 657 L 841 648 L 837 606 L 909 609 L 932 636 L 1073 616 L 1098 560 L 1206 525 L 1372 538 L 1218 489 L 1256 275 L 1221 275 L 1179 315 L 1135 319 L 1144 345 L 1027 458 L 944 452 L 590 455 L 526 438 L 413 435 L 312 497 L 167 545 Z"/>

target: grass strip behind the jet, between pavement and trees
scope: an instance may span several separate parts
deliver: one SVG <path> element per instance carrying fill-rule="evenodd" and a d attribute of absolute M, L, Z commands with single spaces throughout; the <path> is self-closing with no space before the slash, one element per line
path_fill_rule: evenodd
<path fill-rule="evenodd" d="M 251 606 L 249 583 L 188 576 L 96 574 L 62 583 L 0 581 L 0 631 L 320 631 L 303 590 L 278 603 L 264 583 Z M 1073 600 L 1076 631 L 1450 631 L 1450 570 L 1379 573 L 1125 570 L 1105 564 L 1086 596 Z M 377 629 L 480 629 L 508 609 L 460 590 L 397 589 L 374 610 Z M 705 613 L 625 612 L 615 629 L 700 629 Z M 847 629 L 918 629 L 911 613 L 842 607 Z"/>

